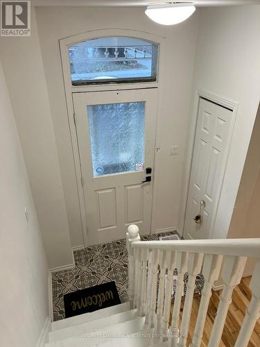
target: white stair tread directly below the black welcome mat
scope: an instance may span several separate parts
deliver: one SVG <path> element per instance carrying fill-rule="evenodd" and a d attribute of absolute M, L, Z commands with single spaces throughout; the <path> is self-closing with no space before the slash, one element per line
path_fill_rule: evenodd
<path fill-rule="evenodd" d="M 89 321 L 96 321 L 103 317 L 112 316 L 113 314 L 118 314 L 129 310 L 128 303 L 122 303 L 120 305 L 114 305 L 111 307 L 103 308 L 102 310 L 97 310 L 94 312 L 88 312 L 85 314 L 79 314 L 78 316 L 73 316 L 71 318 L 62 319 L 61 321 L 55 321 L 51 323 L 51 330 L 56 331 L 64 328 L 69 328 L 82 323 L 87 323 Z"/>

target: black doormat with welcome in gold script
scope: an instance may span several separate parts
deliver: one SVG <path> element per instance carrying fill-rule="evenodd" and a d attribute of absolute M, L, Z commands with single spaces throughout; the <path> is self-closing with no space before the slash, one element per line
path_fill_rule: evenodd
<path fill-rule="evenodd" d="M 120 303 L 119 293 L 114 281 L 103 285 L 95 285 L 64 295 L 65 317 L 78 316 L 78 314 L 101 310 Z"/>

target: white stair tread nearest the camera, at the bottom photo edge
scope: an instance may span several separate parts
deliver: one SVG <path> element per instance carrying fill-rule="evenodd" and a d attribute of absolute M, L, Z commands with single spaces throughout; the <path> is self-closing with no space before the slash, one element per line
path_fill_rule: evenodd
<path fill-rule="evenodd" d="M 124 340 L 123 346 L 125 346 L 125 335 L 131 335 L 135 332 L 144 332 L 146 325 L 144 323 L 144 317 L 138 317 L 130 321 L 118 323 L 94 332 L 81 334 L 75 337 L 69 337 L 60 341 L 53 341 L 46 344 L 46 347 L 91 347 L 98 346 L 100 344 L 110 343 L 107 346 L 116 346 L 116 341 Z M 120 338 L 122 337 L 122 338 Z M 128 339 L 132 340 L 132 339 Z M 145 340 L 145 339 L 144 339 Z M 150 340 L 150 339 L 149 339 Z M 135 339 L 136 341 L 136 339 Z M 147 341 L 144 342 L 144 346 Z M 122 345 L 122 341 L 121 341 Z M 117 345 L 116 347 L 119 347 Z"/>

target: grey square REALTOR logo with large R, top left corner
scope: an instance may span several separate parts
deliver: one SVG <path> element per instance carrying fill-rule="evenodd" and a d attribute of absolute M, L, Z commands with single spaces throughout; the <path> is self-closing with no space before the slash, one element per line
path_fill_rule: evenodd
<path fill-rule="evenodd" d="M 31 36 L 31 1 L 1 1 L 1 36 Z"/>

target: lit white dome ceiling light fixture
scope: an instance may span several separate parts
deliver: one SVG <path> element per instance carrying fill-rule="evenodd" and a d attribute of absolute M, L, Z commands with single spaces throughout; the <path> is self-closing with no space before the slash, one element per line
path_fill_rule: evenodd
<path fill-rule="evenodd" d="M 164 5 L 148 6 L 146 15 L 156 23 L 173 25 L 189 18 L 195 10 L 193 3 L 166 3 Z"/>

